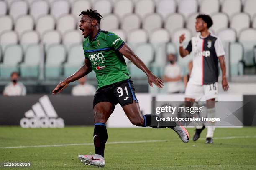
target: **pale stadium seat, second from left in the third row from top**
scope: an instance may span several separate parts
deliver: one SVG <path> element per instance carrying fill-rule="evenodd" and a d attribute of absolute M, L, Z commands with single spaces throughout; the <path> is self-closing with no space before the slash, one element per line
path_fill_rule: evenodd
<path fill-rule="evenodd" d="M 26 50 L 30 45 L 36 45 L 40 41 L 38 32 L 36 31 L 27 31 L 23 32 L 20 36 L 20 45 L 23 47 L 23 50 Z"/>

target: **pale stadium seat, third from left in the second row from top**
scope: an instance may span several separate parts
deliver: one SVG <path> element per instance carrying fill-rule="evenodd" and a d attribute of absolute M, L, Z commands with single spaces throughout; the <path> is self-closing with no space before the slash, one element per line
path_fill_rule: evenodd
<path fill-rule="evenodd" d="M 46 31 L 54 30 L 54 28 L 55 19 L 51 15 L 42 16 L 36 21 L 36 31 L 39 33 L 41 38 Z"/>

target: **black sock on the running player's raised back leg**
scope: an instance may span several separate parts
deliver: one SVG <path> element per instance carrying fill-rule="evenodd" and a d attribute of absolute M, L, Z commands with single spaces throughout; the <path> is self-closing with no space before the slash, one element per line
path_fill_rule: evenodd
<path fill-rule="evenodd" d="M 151 126 L 152 128 L 174 128 L 176 122 L 174 121 L 157 121 L 157 115 L 143 115 L 144 117 L 144 126 Z"/>

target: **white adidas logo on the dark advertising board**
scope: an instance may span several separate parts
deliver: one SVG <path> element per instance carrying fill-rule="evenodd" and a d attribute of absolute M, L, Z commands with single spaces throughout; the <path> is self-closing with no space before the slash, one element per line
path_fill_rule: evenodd
<path fill-rule="evenodd" d="M 47 95 L 39 99 L 20 120 L 22 128 L 64 128 L 64 120 L 58 117 Z"/>

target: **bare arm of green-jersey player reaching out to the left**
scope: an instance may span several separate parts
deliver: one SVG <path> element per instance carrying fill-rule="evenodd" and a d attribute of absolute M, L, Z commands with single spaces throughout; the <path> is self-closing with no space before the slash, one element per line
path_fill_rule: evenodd
<path fill-rule="evenodd" d="M 81 77 L 84 77 L 85 75 L 87 75 L 88 73 L 90 73 L 92 71 L 92 66 L 90 65 L 90 61 L 88 58 L 86 58 L 84 60 L 84 65 L 82 67 L 80 67 L 80 69 L 75 72 L 73 75 L 67 77 L 65 80 L 63 80 L 62 82 L 60 82 L 55 88 L 54 90 L 52 90 L 52 94 L 56 94 L 56 93 L 60 93 L 62 90 L 64 90 L 64 88 L 67 87 L 67 85 L 70 82 L 76 81 Z"/>

